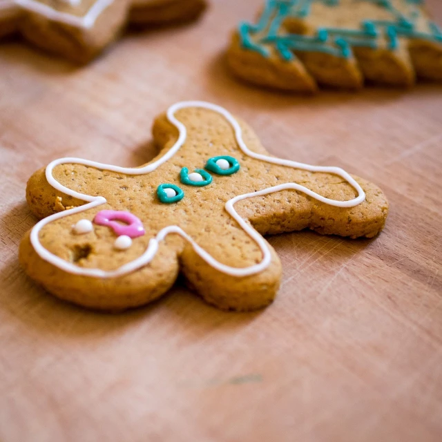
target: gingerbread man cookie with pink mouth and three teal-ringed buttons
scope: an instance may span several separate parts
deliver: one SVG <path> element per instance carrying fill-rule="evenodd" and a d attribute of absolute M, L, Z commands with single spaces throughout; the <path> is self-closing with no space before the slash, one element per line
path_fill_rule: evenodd
<path fill-rule="evenodd" d="M 23 238 L 20 260 L 52 294 L 126 309 L 160 297 L 182 272 L 220 309 L 258 309 L 281 278 L 262 235 L 309 228 L 372 238 L 384 227 L 377 186 L 269 155 L 220 106 L 177 103 L 153 136 L 161 152 L 140 168 L 61 158 L 28 181 L 28 204 L 43 219 Z"/>

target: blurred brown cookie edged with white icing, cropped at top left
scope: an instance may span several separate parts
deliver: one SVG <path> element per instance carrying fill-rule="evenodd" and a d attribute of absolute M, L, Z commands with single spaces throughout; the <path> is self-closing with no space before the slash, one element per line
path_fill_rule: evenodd
<path fill-rule="evenodd" d="M 40 48 L 86 63 L 128 22 L 187 21 L 205 6 L 205 0 L 0 0 L 0 37 L 20 32 Z"/>

